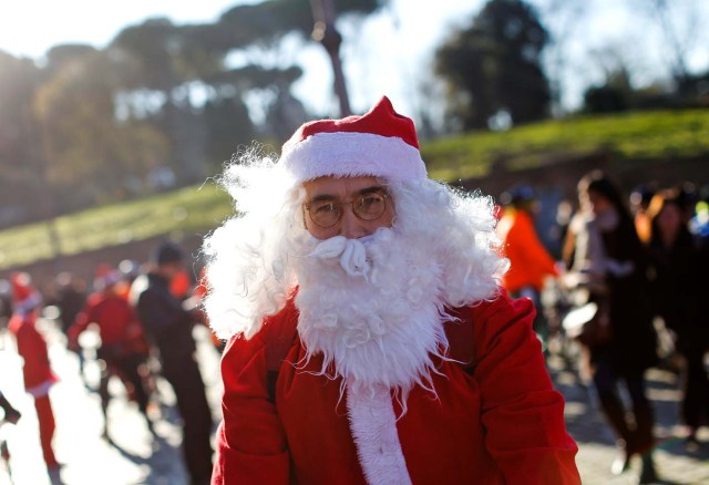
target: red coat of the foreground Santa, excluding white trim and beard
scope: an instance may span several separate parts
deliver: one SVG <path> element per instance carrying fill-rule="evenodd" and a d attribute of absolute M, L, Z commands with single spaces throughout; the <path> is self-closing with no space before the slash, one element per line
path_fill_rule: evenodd
<path fill-rule="evenodd" d="M 564 400 L 532 330 L 532 305 L 503 296 L 455 313 L 463 321 L 446 323 L 451 352 L 460 357 L 472 348 L 474 370 L 440 362 L 432 376 L 438 399 L 418 386 L 410 393 L 395 429 L 411 482 L 580 483 Z M 317 357 L 302 368 L 297 338 L 279 371 L 276 402 L 269 401 L 265 342 L 274 341 L 269 326 L 282 319 L 297 319 L 292 301 L 253 339 L 235 337 L 225 350 L 213 484 L 366 483 L 341 381 L 308 372 L 321 369 Z M 469 323 L 472 342 L 461 343 L 452 333 Z"/>

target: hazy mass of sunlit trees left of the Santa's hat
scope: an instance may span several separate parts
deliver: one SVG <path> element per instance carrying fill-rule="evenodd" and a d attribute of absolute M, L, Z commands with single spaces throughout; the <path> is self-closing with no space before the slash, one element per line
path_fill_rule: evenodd
<path fill-rule="evenodd" d="M 277 52 L 287 37 L 314 42 L 312 29 L 309 0 L 267 0 L 215 22 L 147 19 L 105 49 L 56 45 L 42 64 L 0 52 L 0 226 L 202 182 L 240 145 L 279 144 L 311 114 L 290 93 L 302 68 Z"/>

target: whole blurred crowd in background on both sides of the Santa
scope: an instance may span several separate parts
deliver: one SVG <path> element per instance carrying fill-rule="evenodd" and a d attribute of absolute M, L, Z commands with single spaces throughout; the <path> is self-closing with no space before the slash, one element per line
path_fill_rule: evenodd
<path fill-rule="evenodd" d="M 540 237 L 536 189 L 518 185 L 501 195 L 497 234 L 511 262 L 502 283 L 513 298 L 526 297 L 535 303 L 534 329 L 545 344 L 555 338 L 575 338 L 580 344 L 579 369 L 593 381 L 600 410 L 617 436 L 612 471 L 623 473 L 639 456 L 640 482 L 651 483 L 657 479 L 651 453 L 654 414 L 645 371 L 668 357 L 659 351 L 658 332 L 670 336 L 671 365 L 682 376 L 678 419 L 687 426 L 688 446 L 698 445 L 698 429 L 709 424 L 709 322 L 701 311 L 709 270 L 709 204 L 691 184 L 667 188 L 648 184 L 626 196 L 602 172 L 583 177 L 577 195 L 573 205 L 578 208 L 573 217 L 561 217 L 564 223 L 557 228 L 559 257 L 552 256 Z M 559 210 L 568 213 L 568 206 Z M 110 380 L 123 383 L 154 434 L 160 419 L 155 379 L 162 376 L 174 390 L 182 416 L 192 483 L 209 483 L 213 416 L 193 337 L 195 324 L 207 323 L 199 305 L 206 289 L 204 275 L 189 275 L 184 259 L 179 246 L 167 241 L 143 265 L 130 259 L 100 265 L 91 285 L 69 272 L 58 275 L 43 293 L 24 272 L 0 281 L 0 322 L 14 337 L 24 360 L 24 385 L 34 400 L 42 453 L 53 483 L 61 482 L 52 448 L 55 423 L 49 391 L 58 379 L 37 324 L 42 309 L 65 336 L 85 385 L 101 398 L 104 437 L 111 440 Z M 549 282 L 559 295 L 553 302 L 543 298 Z M 54 311 L 47 314 L 48 308 Z M 568 314 L 582 308 L 593 311 L 585 310 L 585 320 L 566 327 L 559 308 Z M 572 326 L 580 327 L 576 331 Z M 100 337 L 97 384 L 85 379 L 82 336 L 88 331 Z M 213 343 L 216 351 L 222 350 L 218 340 Z M 629 396 L 629 409 L 619 385 Z M 6 421 L 20 419 L 2 390 L 0 404 Z"/>

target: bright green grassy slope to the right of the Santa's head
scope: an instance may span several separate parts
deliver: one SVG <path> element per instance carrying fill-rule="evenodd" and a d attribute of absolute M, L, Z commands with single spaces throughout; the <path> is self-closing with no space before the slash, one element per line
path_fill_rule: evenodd
<path fill-rule="evenodd" d="M 600 149 L 618 162 L 709 154 L 709 110 L 546 121 L 504 133 L 441 138 L 424 144 L 421 152 L 433 178 L 455 180 L 484 177 L 497 158 L 510 169 L 533 168 Z"/>

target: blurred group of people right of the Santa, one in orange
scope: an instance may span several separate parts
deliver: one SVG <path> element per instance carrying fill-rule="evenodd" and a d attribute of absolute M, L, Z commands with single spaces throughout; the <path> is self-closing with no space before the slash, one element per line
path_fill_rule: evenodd
<path fill-rule="evenodd" d="M 574 338 L 580 344 L 578 368 L 593 381 L 617 436 L 612 472 L 623 473 L 640 456 L 640 483 L 653 483 L 654 414 L 645 371 L 665 363 L 680 373 L 678 417 L 687 426 L 688 447 L 699 445 L 697 430 L 709 424 L 709 321 L 701 311 L 709 270 L 707 197 L 689 183 L 647 184 L 626 196 L 599 171 L 579 180 L 577 194 L 578 209 L 558 231 L 558 261 L 535 228 L 535 189 L 515 186 L 500 197 L 497 231 L 511 261 L 503 286 L 535 301 L 540 339 Z M 549 283 L 561 298 L 543 305 Z M 558 316 L 559 307 L 568 317 L 575 311 L 574 318 L 548 318 Z M 669 337 L 669 351 L 661 349 L 658 334 Z"/>

